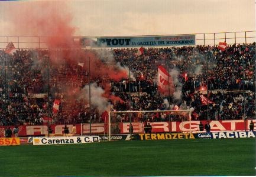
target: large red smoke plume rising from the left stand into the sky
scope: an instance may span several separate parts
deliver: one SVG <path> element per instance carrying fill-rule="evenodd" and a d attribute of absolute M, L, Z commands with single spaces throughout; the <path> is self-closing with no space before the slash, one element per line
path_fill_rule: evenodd
<path fill-rule="evenodd" d="M 106 65 L 98 58 L 93 51 L 85 51 L 79 44 L 74 44 L 72 36 L 76 28 L 72 26 L 72 14 L 68 5 L 63 1 L 21 1 L 16 6 L 8 7 L 10 22 L 15 26 L 15 32 L 19 36 L 46 36 L 42 38 L 49 49 L 51 79 L 54 79 L 54 69 L 59 69 L 59 65 L 66 64 L 63 69 L 64 79 L 56 78 L 57 85 L 66 86 L 61 92 L 63 95 L 76 95 L 77 88 L 82 80 L 89 81 L 89 78 L 81 78 L 77 71 L 81 70 L 78 62 L 85 65 L 82 69 L 90 70 L 90 79 L 106 78 L 119 81 L 127 78 L 126 71 L 120 71 L 116 66 Z M 90 61 L 89 61 L 90 59 Z M 90 62 L 90 68 L 89 68 Z M 70 68 L 71 67 L 71 68 Z M 82 72 L 82 71 L 79 71 Z M 106 91 L 105 97 L 112 101 L 122 101 L 120 98 L 110 95 Z M 72 99 L 73 100 L 73 99 Z"/>

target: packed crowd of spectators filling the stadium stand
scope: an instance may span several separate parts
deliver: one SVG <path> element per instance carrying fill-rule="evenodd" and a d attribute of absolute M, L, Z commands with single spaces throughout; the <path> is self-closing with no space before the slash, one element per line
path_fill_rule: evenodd
<path fill-rule="evenodd" d="M 136 48 L 109 50 L 116 63 L 128 66 L 131 79 L 117 82 L 109 78 L 90 78 L 98 86 L 108 82 L 112 95 L 124 101 L 112 102 L 112 111 L 166 110 L 177 105 L 180 109 L 193 108 L 193 120 L 208 119 L 208 116 L 211 120 L 243 119 L 244 113 L 248 119 L 255 117 L 255 43 L 227 46 L 225 51 L 220 51 L 218 46 L 144 48 L 144 54 L 139 56 L 137 51 Z M 92 52 L 98 55 L 97 50 L 92 49 Z M 0 125 L 5 120 L 4 106 L 6 125 L 40 125 L 47 116 L 52 117 L 54 123 L 80 123 L 90 119 L 103 122 L 96 106 L 89 109 L 84 99 L 70 99 L 77 90 L 88 85 L 89 71 L 81 69 L 76 62 L 63 62 L 50 65 L 47 77 L 48 58 L 47 50 L 18 49 L 11 55 L 0 51 Z M 177 71 L 174 83 L 177 95 L 169 97 L 158 92 L 158 65 Z M 4 94 L 5 80 L 7 96 Z M 67 90 L 70 92 L 64 92 Z M 208 105 L 202 102 L 201 95 L 209 99 Z M 57 113 L 52 110 L 55 99 L 61 101 Z M 144 119 L 167 121 L 169 118 L 164 114 L 150 114 L 141 115 L 136 121 Z M 179 118 L 173 116 L 171 120 Z M 127 122 L 128 117 L 119 121 Z"/>

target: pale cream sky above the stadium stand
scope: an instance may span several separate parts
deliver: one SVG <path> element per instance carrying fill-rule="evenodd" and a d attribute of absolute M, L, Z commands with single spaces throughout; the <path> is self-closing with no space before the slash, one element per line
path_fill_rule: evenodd
<path fill-rule="evenodd" d="M 255 30 L 255 0 L 85 0 L 48 1 L 71 14 L 77 36 L 173 35 Z M 1 1 L 0 36 L 19 34 L 9 9 L 40 1 Z M 44 9 L 41 9 L 43 12 Z M 38 11 L 40 14 L 41 12 Z M 29 15 L 29 12 L 28 14 Z"/>

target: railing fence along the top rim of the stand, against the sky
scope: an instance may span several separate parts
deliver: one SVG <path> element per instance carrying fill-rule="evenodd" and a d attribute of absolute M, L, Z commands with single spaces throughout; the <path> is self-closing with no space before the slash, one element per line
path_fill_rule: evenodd
<path fill-rule="evenodd" d="M 244 43 L 251 44 L 255 42 L 255 31 L 218 32 L 186 35 L 196 35 L 196 45 L 218 45 L 219 42 L 223 41 L 226 41 L 228 45 Z M 84 37 L 85 36 L 74 36 L 73 38 L 79 39 Z M 102 38 L 102 36 L 92 36 L 87 38 L 95 39 Z M 0 49 L 4 49 L 8 42 L 13 42 L 15 48 L 18 49 L 47 49 L 46 39 L 47 37 L 44 36 L 0 36 Z"/>

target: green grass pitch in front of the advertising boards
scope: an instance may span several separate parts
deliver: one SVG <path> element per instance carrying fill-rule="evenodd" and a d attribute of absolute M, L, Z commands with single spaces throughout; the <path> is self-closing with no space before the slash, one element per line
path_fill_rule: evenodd
<path fill-rule="evenodd" d="M 255 139 L 2 146 L 0 176 L 255 175 Z"/>

